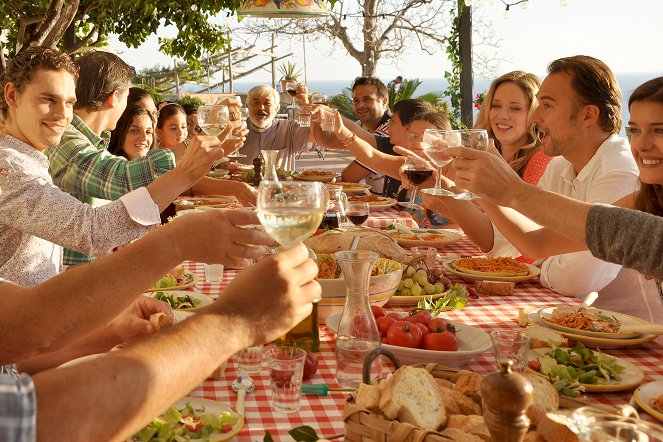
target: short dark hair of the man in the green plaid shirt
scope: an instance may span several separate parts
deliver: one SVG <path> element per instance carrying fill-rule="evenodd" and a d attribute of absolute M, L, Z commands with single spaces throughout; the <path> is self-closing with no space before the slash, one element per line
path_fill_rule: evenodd
<path fill-rule="evenodd" d="M 89 52 L 76 60 L 80 77 L 76 84 L 76 105 L 74 109 L 86 112 L 100 110 L 104 101 L 114 91 L 123 94 L 129 82 L 136 76 L 136 70 L 120 57 L 110 52 Z"/>

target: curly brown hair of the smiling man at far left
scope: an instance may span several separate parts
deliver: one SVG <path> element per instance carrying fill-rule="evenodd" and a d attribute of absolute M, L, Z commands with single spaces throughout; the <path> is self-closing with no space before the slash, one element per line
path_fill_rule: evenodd
<path fill-rule="evenodd" d="M 2 90 L 7 83 L 12 83 L 16 92 L 21 93 L 32 81 L 35 72 L 44 69 L 48 71 L 67 71 L 74 81 L 78 79 L 78 68 L 67 54 L 51 48 L 32 46 L 20 51 L 11 59 L 2 73 Z M 5 101 L 4 93 L 0 93 L 0 110 L 6 120 L 9 117 L 9 107 Z"/>

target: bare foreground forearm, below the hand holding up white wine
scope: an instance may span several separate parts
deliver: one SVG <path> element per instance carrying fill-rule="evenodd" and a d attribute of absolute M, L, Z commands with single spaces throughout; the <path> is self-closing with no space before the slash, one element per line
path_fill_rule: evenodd
<path fill-rule="evenodd" d="M 125 440 L 250 345 L 249 335 L 245 321 L 236 316 L 199 313 L 119 352 L 38 374 L 37 435 L 48 440 L 58 428 L 69 441 Z"/>

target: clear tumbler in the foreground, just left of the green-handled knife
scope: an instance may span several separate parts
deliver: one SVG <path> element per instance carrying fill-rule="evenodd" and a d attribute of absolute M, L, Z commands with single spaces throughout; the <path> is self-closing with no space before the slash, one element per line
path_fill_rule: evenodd
<path fill-rule="evenodd" d="M 306 351 L 291 346 L 273 346 L 267 349 L 266 355 L 272 385 L 272 408 L 280 413 L 298 411 Z"/>

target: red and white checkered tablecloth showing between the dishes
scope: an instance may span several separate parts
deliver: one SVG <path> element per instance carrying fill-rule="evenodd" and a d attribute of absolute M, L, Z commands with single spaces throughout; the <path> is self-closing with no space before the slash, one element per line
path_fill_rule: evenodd
<path fill-rule="evenodd" d="M 395 212 L 395 211 L 394 211 Z M 440 252 L 451 252 L 462 255 L 477 255 L 479 250 L 469 240 L 462 240 L 450 244 L 441 249 Z M 209 294 L 212 297 L 219 295 L 220 290 L 225 287 L 236 275 L 236 271 L 227 270 L 221 283 L 204 282 L 204 268 L 200 263 L 187 262 L 187 269 L 200 276 L 200 281 L 195 289 Z M 448 275 L 454 282 L 463 282 L 454 275 Z M 577 305 L 580 301 L 574 298 L 566 298 L 542 287 L 537 281 L 524 282 L 516 285 L 513 296 L 510 297 L 488 297 L 471 299 L 470 303 L 463 309 L 446 312 L 444 316 L 461 323 L 478 326 L 485 331 L 496 328 L 517 328 L 515 322 L 516 312 L 519 307 L 531 311 L 536 308 L 552 305 Z M 392 309 L 390 309 L 392 310 Z M 405 311 L 405 308 L 395 308 L 396 311 Z M 335 380 L 335 336 L 326 327 L 321 326 L 320 353 L 318 354 L 318 373 L 307 381 L 309 383 L 326 383 L 330 387 L 336 387 Z M 663 379 L 663 347 L 655 342 L 616 349 L 605 350 L 606 353 L 624 358 L 636 364 L 645 374 L 645 382 Z M 494 356 L 488 351 L 472 359 L 464 368 L 487 374 L 494 370 Z M 192 396 L 202 396 L 220 402 L 234 404 L 236 394 L 232 391 L 230 384 L 237 376 L 234 359 L 228 362 L 226 378 L 218 381 L 207 380 L 192 392 Z M 268 430 L 274 440 L 291 440 L 288 431 L 300 425 L 313 427 L 320 437 L 330 437 L 342 434 L 343 427 L 343 405 L 347 393 L 330 392 L 328 396 L 302 396 L 301 410 L 293 414 L 280 414 L 271 409 L 269 404 L 271 390 L 269 387 L 269 374 L 266 367 L 259 375 L 253 376 L 256 380 L 256 391 L 246 397 L 246 425 L 238 434 L 239 441 L 262 441 Z M 619 405 L 629 402 L 632 391 L 618 393 L 592 393 L 588 395 L 590 402 Z M 644 414 L 644 412 L 643 412 Z"/>

